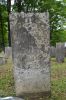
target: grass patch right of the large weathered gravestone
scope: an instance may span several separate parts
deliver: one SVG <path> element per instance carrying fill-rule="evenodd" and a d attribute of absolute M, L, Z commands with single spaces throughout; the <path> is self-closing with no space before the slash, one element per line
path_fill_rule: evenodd
<path fill-rule="evenodd" d="M 66 59 L 64 63 L 51 60 L 52 100 L 66 100 Z"/>

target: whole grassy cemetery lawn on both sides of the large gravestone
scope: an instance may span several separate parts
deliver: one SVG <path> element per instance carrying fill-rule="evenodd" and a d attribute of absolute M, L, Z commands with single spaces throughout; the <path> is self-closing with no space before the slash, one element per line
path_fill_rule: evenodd
<path fill-rule="evenodd" d="M 11 60 L 0 65 L 0 96 L 15 96 L 13 64 Z M 48 99 L 49 100 L 49 99 Z M 51 99 L 66 100 L 66 59 L 57 63 L 51 59 Z"/>

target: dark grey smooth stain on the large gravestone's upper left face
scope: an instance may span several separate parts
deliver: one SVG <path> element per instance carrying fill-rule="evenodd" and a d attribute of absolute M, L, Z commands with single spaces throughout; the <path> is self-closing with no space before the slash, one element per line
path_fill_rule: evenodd
<path fill-rule="evenodd" d="M 35 43 L 35 38 L 28 33 L 25 27 L 22 27 L 21 29 L 17 30 L 17 41 L 20 41 L 21 48 L 23 47 L 25 49 L 29 49 L 30 46 L 37 47 Z M 18 46 L 20 46 L 20 44 L 18 44 Z"/>

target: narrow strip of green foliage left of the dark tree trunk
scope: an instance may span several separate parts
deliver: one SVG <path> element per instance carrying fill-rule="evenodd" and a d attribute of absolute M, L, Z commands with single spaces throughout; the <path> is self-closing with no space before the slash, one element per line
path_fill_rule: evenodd
<path fill-rule="evenodd" d="M 6 6 L 0 4 L 0 48 L 6 46 L 8 43 L 7 16 Z"/>

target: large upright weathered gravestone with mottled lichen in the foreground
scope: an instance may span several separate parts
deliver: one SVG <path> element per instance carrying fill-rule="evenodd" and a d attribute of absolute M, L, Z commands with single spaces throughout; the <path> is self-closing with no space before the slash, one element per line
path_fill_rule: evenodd
<path fill-rule="evenodd" d="M 48 17 L 48 12 L 10 15 L 17 96 L 50 95 Z"/>

